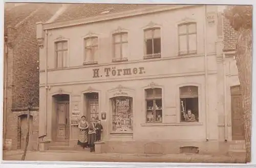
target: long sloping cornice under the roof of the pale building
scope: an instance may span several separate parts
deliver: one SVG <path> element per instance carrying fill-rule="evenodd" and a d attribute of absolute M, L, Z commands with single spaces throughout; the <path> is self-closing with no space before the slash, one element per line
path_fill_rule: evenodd
<path fill-rule="evenodd" d="M 58 29 L 58 28 L 72 27 L 72 26 L 78 26 L 78 25 L 86 25 L 89 23 L 94 23 L 99 21 L 120 19 L 124 17 L 138 16 L 138 15 L 151 14 L 151 13 L 163 12 L 168 10 L 177 10 L 177 9 L 188 8 L 188 7 L 198 7 L 198 6 L 199 5 L 177 5 L 177 6 L 166 5 L 166 7 L 161 6 L 161 7 L 136 9 L 136 10 L 125 11 L 125 12 L 115 12 L 115 13 L 110 13 L 105 15 L 87 17 L 84 19 L 44 23 L 43 29 L 50 30 L 50 29 Z"/>

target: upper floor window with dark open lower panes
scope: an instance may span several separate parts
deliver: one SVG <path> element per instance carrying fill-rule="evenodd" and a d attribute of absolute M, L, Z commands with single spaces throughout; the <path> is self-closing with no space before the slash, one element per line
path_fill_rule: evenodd
<path fill-rule="evenodd" d="M 144 30 L 145 38 L 145 56 L 148 58 L 161 57 L 161 32 L 160 28 L 152 28 Z"/>

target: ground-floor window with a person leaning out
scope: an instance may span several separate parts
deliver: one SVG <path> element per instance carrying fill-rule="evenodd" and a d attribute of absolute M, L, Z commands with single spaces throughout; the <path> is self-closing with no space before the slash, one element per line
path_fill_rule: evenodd
<path fill-rule="evenodd" d="M 181 122 L 198 122 L 198 87 L 180 87 Z"/>

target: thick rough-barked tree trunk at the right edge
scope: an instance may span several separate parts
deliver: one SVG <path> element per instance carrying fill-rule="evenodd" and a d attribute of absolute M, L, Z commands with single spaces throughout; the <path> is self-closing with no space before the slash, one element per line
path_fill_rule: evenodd
<path fill-rule="evenodd" d="M 239 30 L 237 43 L 238 77 L 242 91 L 242 105 L 245 129 L 245 162 L 251 160 L 251 65 L 252 65 L 252 30 Z"/>

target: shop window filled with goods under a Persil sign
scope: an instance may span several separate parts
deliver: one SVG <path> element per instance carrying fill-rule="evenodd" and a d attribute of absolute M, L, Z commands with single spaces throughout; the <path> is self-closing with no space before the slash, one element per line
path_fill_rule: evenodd
<path fill-rule="evenodd" d="M 132 128 L 132 105 L 130 97 L 115 97 L 112 103 L 112 132 L 131 133 Z"/>

